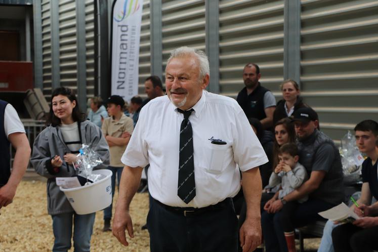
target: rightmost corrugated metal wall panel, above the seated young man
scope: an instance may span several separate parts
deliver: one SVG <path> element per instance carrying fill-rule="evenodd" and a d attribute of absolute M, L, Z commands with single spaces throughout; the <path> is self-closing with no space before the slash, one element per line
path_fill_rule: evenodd
<path fill-rule="evenodd" d="M 321 129 L 340 139 L 378 120 L 378 1 L 302 0 L 301 82 Z"/>

